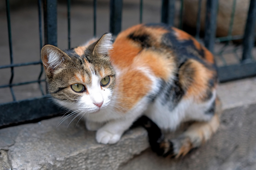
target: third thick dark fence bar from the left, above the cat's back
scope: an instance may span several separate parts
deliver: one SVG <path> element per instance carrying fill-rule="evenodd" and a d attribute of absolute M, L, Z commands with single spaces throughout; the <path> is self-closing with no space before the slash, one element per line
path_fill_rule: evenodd
<path fill-rule="evenodd" d="M 174 25 L 175 0 L 162 0 L 161 22 Z"/>

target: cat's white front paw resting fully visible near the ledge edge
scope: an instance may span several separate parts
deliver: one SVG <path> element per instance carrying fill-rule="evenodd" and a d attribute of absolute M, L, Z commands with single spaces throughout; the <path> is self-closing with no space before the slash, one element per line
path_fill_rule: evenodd
<path fill-rule="evenodd" d="M 113 144 L 120 140 L 121 135 L 119 134 L 112 134 L 105 130 L 98 130 L 96 133 L 96 140 L 98 143 L 103 144 Z"/>

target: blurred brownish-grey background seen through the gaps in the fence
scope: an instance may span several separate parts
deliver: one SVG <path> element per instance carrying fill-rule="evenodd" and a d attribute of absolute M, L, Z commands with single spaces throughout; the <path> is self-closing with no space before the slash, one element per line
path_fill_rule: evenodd
<path fill-rule="evenodd" d="M 38 2 L 35 0 L 10 0 L 10 24 L 13 51 L 13 63 L 39 61 L 40 40 L 38 24 Z M 177 0 L 175 2 L 174 26 L 191 35 L 196 35 L 197 13 L 201 3 L 200 37 L 204 36 L 206 18 L 206 0 Z M 214 53 L 218 66 L 239 63 L 242 56 L 242 37 L 247 19 L 249 0 L 219 0 L 217 13 L 217 30 Z M 97 1 L 96 36 L 109 32 L 110 1 Z M 162 1 L 143 1 L 143 23 L 160 23 Z M 57 5 L 57 45 L 60 49 L 68 48 L 67 1 L 59 0 Z M 43 15 L 41 15 L 43 21 Z M 70 45 L 71 48 L 85 43 L 94 36 L 93 0 L 71 0 L 70 8 Z M 140 1 L 123 0 L 121 29 L 140 23 Z M 42 23 L 43 24 L 43 23 Z M 44 27 L 42 25 L 42 32 Z M 230 36 L 234 36 L 231 37 Z M 224 38 L 223 38 L 224 37 Z M 197 37 L 198 38 L 198 37 Z M 230 39 L 233 41 L 227 41 Z M 200 38 L 199 38 L 200 40 Z M 202 39 L 201 39 L 202 40 Z M 44 42 L 44 36 L 42 36 Z M 253 50 L 255 58 L 255 50 Z M 5 1 L 0 1 L 0 66 L 10 64 L 8 44 L 8 26 Z M 10 81 L 11 68 L 0 69 L 0 86 Z M 12 83 L 37 80 L 41 72 L 40 65 L 14 68 Z M 44 79 L 41 76 L 41 80 Z M 45 93 L 45 82 L 41 82 Z M 22 86 L 14 86 L 16 100 L 41 96 L 37 82 Z M 0 103 L 11 102 L 9 87 L 0 88 Z"/>

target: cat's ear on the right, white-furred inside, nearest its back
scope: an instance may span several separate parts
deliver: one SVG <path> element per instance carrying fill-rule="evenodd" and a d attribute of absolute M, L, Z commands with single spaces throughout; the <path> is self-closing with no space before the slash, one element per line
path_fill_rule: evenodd
<path fill-rule="evenodd" d="M 97 44 L 94 47 L 93 55 L 108 55 L 109 51 L 113 48 L 112 34 L 105 33 L 96 43 Z"/>

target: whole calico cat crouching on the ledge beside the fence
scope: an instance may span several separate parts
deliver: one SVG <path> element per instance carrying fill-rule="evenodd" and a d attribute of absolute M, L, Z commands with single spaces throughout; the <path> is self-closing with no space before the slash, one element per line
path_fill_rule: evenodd
<path fill-rule="evenodd" d="M 113 44 L 106 33 L 71 50 L 45 45 L 41 56 L 49 93 L 84 117 L 87 129 L 97 130 L 99 143 L 118 142 L 142 115 L 169 130 L 195 120 L 177 139 L 157 143 L 162 154 L 179 157 L 207 141 L 219 126 L 214 57 L 177 28 L 135 25 Z"/>

